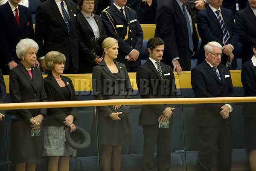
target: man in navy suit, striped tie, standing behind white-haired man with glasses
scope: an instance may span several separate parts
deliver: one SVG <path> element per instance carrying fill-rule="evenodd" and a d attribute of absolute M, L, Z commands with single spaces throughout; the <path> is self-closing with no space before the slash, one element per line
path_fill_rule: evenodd
<path fill-rule="evenodd" d="M 239 38 L 234 32 L 232 11 L 222 8 L 221 5 L 222 0 L 209 0 L 209 6 L 198 12 L 198 33 L 202 39 L 198 64 L 204 61 L 204 45 L 210 41 L 216 41 L 223 46 L 221 64 L 236 70 L 237 64 L 233 51 L 236 49 Z"/>

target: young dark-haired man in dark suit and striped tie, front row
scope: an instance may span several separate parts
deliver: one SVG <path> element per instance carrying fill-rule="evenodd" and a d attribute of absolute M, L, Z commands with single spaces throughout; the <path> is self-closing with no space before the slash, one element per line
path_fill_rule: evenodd
<path fill-rule="evenodd" d="M 171 98 L 175 93 L 175 77 L 172 68 L 161 62 L 164 42 L 151 38 L 147 44 L 148 60 L 137 68 L 137 86 L 143 99 Z M 154 168 L 154 151 L 157 145 L 157 170 L 168 171 L 171 162 L 172 110 L 166 104 L 143 105 L 139 125 L 144 135 L 143 171 Z M 168 128 L 160 128 L 166 122 Z"/>

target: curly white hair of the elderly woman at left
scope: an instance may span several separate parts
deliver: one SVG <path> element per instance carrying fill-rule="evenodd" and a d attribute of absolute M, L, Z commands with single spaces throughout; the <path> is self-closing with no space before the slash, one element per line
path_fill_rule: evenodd
<path fill-rule="evenodd" d="M 26 54 L 26 51 L 29 48 L 35 48 L 38 51 L 38 44 L 32 39 L 26 38 L 21 39 L 20 42 L 16 46 L 16 54 L 19 59 L 22 58 L 23 55 Z"/>

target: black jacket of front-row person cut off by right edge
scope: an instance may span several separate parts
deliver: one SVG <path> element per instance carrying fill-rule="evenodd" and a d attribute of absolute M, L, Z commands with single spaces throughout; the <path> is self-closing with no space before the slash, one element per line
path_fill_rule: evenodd
<path fill-rule="evenodd" d="M 256 96 L 256 67 L 253 66 L 252 60 L 249 60 L 242 65 L 241 81 L 244 87 L 244 96 Z M 255 103 L 244 103 L 244 117 L 256 118 L 255 111 Z"/>

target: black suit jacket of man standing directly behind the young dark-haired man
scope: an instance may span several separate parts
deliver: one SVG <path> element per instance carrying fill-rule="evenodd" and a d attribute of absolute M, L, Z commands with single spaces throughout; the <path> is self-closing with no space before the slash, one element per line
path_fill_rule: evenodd
<path fill-rule="evenodd" d="M 189 13 L 191 15 L 190 9 Z M 192 16 L 192 15 L 191 15 Z M 198 35 L 193 23 L 193 44 L 194 52 L 198 47 Z M 165 49 L 163 63 L 172 66 L 172 59 L 179 57 L 182 70 L 189 71 L 191 68 L 191 55 L 189 50 L 188 30 L 183 12 L 176 0 L 166 0 L 157 10 L 156 36 L 163 39 Z"/>

